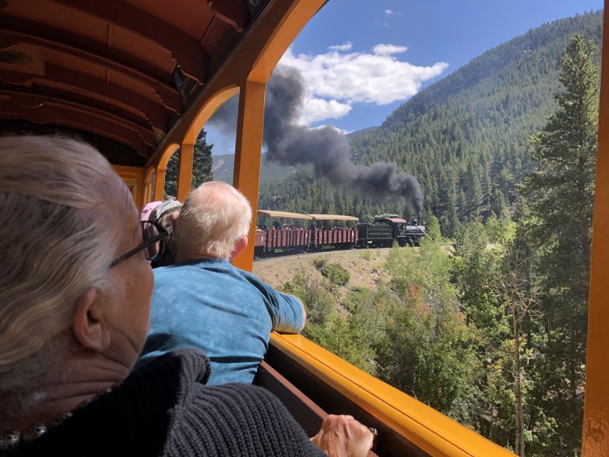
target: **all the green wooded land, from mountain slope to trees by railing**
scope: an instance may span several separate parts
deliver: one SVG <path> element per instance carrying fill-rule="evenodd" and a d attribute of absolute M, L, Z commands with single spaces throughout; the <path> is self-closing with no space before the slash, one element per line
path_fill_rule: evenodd
<path fill-rule="evenodd" d="M 376 288 L 339 297 L 333 263 L 316 264 L 322 283 L 285 284 L 308 338 L 521 457 L 581 455 L 601 26 L 590 13 L 529 31 L 351 136 L 359 163 L 418 177 L 429 236 L 394 248 Z M 261 189 L 290 211 L 400 206 L 306 169 Z"/>

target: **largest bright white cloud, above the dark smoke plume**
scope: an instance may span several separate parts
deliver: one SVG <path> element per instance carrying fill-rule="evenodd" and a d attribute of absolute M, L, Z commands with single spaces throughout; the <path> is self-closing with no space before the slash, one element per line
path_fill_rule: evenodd
<path fill-rule="evenodd" d="M 296 56 L 289 48 L 280 64 L 300 70 L 306 81 L 301 123 L 341 118 L 358 103 L 386 105 L 406 100 L 421 89 L 424 81 L 448 67 L 445 62 L 417 66 L 393 55 L 406 49 L 377 44 L 372 53 L 331 50 L 326 54 Z"/>

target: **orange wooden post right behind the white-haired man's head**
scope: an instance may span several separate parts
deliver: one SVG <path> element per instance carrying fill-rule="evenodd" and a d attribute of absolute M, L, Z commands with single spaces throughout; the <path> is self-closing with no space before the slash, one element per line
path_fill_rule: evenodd
<path fill-rule="evenodd" d="M 253 246 L 256 242 L 265 90 L 266 84 L 246 81 L 239 92 L 233 186 L 243 192 L 249 200 L 252 221 L 248 233 L 248 246 L 234 259 L 233 264 L 247 271 L 251 271 L 253 267 Z"/>

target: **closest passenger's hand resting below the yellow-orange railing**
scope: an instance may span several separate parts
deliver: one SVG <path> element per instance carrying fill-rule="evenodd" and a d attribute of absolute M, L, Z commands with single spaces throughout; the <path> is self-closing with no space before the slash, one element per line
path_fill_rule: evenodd
<path fill-rule="evenodd" d="M 372 448 L 373 434 L 353 416 L 329 414 L 311 442 L 328 457 L 366 457 Z"/>

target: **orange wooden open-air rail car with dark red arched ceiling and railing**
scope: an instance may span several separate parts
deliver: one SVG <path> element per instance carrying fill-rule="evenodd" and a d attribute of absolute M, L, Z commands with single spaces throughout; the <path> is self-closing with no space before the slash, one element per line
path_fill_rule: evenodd
<path fill-rule="evenodd" d="M 141 207 L 161 199 L 167 162 L 178 148 L 177 197 L 186 197 L 198 132 L 218 106 L 238 94 L 233 184 L 256 210 L 266 83 L 293 39 L 324 3 L 1 1 L 2 129 L 75 132 L 106 154 Z M 607 14 L 605 8 L 605 20 Z M 606 456 L 609 449 L 607 29 L 603 43 L 585 457 Z M 251 239 L 254 231 L 255 221 Z M 251 270 L 253 247 L 251 243 L 236 258 L 237 266 Z M 376 427 L 376 452 L 382 456 L 513 455 L 302 336 L 273 334 L 257 382 L 276 393 L 309 433 L 318 428 L 324 411 L 351 413 Z"/>

